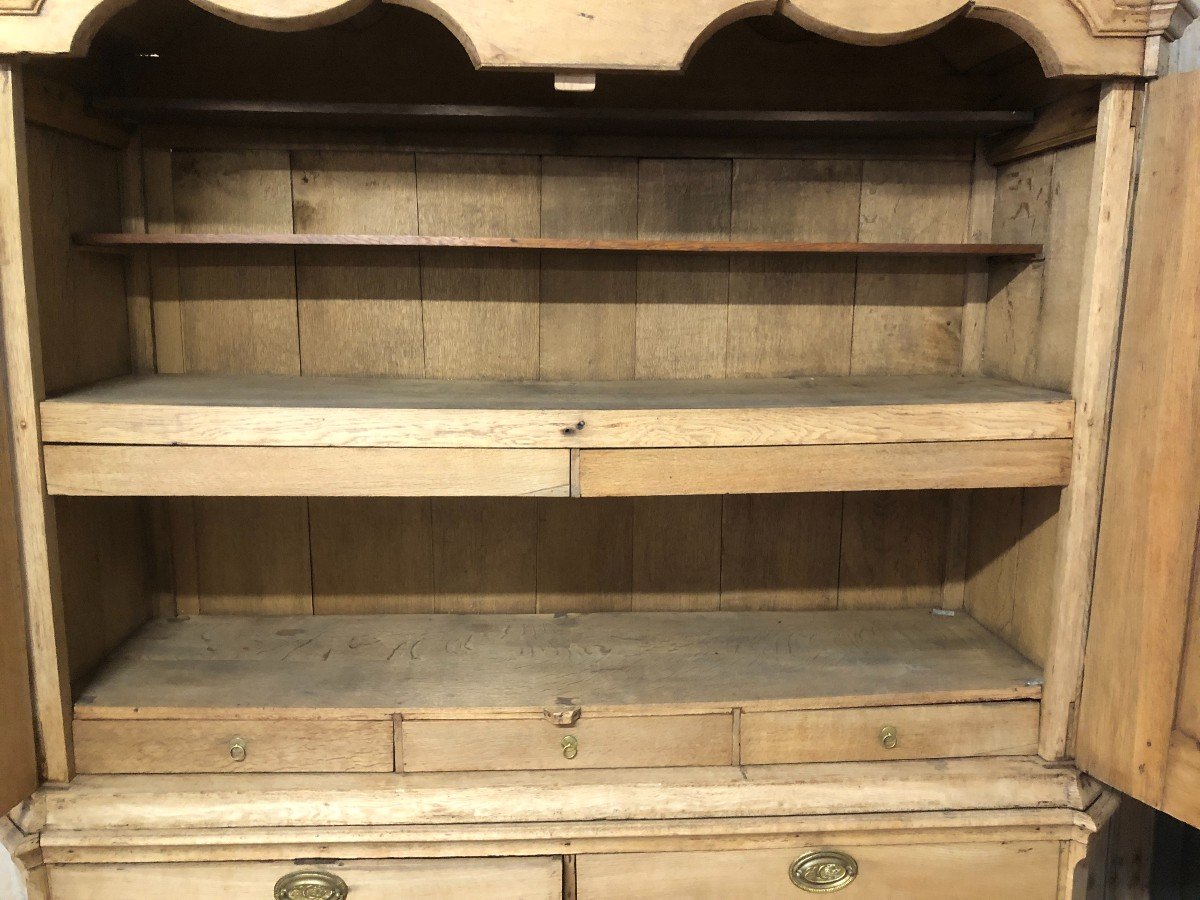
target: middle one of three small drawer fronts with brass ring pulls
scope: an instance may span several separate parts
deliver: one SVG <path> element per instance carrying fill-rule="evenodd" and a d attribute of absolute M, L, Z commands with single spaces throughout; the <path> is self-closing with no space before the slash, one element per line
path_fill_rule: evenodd
<path fill-rule="evenodd" d="M 403 772 L 730 766 L 733 716 L 404 721 L 400 742 Z"/>

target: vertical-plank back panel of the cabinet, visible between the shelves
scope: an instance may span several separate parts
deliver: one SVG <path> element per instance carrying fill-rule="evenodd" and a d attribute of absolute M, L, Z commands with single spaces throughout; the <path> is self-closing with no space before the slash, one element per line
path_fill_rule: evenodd
<path fill-rule="evenodd" d="M 937 160 L 150 152 L 146 199 L 151 230 L 920 241 L 965 236 L 971 176 Z M 618 379 L 961 365 L 961 263 L 236 253 L 228 265 L 190 252 L 178 270 L 156 254 L 162 371 Z M 173 521 L 178 589 L 190 581 L 197 598 L 185 611 L 870 608 L 936 605 L 947 504 L 202 499 Z"/>

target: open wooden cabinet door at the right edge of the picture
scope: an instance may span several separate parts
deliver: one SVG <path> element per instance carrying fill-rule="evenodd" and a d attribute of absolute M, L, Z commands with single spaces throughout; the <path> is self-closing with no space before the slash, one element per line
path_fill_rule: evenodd
<path fill-rule="evenodd" d="M 1200 824 L 1200 73 L 1146 103 L 1076 756 Z"/>

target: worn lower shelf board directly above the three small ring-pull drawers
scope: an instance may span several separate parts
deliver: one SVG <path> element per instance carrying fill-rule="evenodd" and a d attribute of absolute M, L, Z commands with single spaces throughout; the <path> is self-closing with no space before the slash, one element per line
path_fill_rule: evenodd
<path fill-rule="evenodd" d="M 928 611 L 152 622 L 86 719 L 496 719 L 1037 698 L 1038 670 Z"/>

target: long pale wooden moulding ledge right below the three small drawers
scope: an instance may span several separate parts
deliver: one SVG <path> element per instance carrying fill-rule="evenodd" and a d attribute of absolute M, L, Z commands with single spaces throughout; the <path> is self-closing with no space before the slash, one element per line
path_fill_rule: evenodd
<path fill-rule="evenodd" d="M 398 824 L 1084 810 L 1098 790 L 1036 757 L 812 763 L 734 769 L 599 769 L 367 775 L 80 775 L 44 791 L 38 829 L 359 829 Z M 544 826 L 545 827 L 545 826 Z M 670 827 L 670 824 L 667 824 Z M 347 836 L 349 836 L 349 832 Z M 276 835 L 282 836 L 282 835 Z M 136 834 L 127 835 L 137 840 Z"/>

